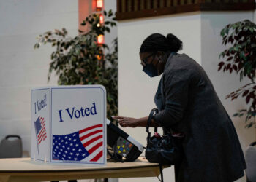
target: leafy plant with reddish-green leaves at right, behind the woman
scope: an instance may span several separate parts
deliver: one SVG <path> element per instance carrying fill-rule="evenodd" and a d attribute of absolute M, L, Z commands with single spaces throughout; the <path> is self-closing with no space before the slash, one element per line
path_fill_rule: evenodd
<path fill-rule="evenodd" d="M 219 55 L 220 61 L 218 71 L 229 71 L 230 74 L 236 71 L 240 75 L 240 82 L 244 77 L 249 78 L 250 82 L 238 90 L 231 92 L 226 98 L 234 100 L 238 97 L 244 98 L 248 108 L 241 109 L 233 116 L 246 116 L 245 127 L 255 125 L 256 116 L 256 25 L 249 20 L 228 24 L 222 29 L 222 44 L 229 45 Z"/>

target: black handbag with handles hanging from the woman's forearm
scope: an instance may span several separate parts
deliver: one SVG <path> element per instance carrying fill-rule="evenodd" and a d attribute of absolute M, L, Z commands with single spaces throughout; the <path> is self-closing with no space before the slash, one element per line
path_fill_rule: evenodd
<path fill-rule="evenodd" d="M 145 151 L 145 157 L 149 162 L 159 163 L 161 165 L 176 165 L 182 157 L 181 150 L 181 138 L 175 138 L 166 131 L 165 135 L 159 135 L 157 133 L 157 127 L 154 127 L 154 135 L 151 136 L 149 132 L 149 126 L 154 114 L 157 114 L 157 108 L 153 108 L 148 116 L 148 122 L 146 126 L 146 132 L 148 132 L 147 146 Z M 159 123 L 157 123 L 161 126 Z"/>

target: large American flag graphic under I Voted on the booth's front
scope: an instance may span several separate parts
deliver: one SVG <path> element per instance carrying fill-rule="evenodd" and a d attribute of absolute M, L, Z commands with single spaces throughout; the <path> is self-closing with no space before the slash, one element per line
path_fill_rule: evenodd
<path fill-rule="evenodd" d="M 53 135 L 53 160 L 97 162 L 103 156 L 103 124 Z"/>

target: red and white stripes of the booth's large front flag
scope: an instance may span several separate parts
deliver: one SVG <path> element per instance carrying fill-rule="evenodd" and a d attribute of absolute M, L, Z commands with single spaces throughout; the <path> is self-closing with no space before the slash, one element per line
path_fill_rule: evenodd
<path fill-rule="evenodd" d="M 80 130 L 79 138 L 90 154 L 86 161 L 97 162 L 103 156 L 103 124 Z"/>

